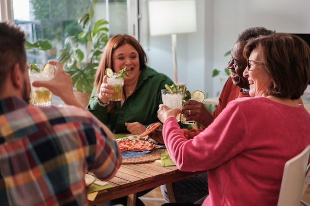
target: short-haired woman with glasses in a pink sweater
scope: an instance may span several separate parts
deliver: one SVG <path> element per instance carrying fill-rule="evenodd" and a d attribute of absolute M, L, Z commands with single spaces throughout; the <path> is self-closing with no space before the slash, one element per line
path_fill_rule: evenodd
<path fill-rule="evenodd" d="M 193 139 L 176 122 L 180 110 L 159 106 L 174 163 L 182 171 L 208 170 L 203 206 L 276 205 L 284 164 L 310 143 L 310 114 L 294 101 L 310 80 L 308 44 L 276 33 L 249 41 L 244 56 L 253 98 L 231 101 Z"/>

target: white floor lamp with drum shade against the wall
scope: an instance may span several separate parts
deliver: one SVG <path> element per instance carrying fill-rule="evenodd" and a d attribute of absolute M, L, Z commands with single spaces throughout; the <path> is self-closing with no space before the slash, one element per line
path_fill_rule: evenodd
<path fill-rule="evenodd" d="M 174 82 L 179 84 L 176 61 L 176 34 L 197 31 L 196 0 L 150 0 L 150 35 L 171 35 Z"/>

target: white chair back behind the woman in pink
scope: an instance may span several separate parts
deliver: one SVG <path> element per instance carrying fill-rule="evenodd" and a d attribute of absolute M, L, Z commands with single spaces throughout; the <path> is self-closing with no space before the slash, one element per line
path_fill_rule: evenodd
<path fill-rule="evenodd" d="M 310 145 L 285 163 L 277 206 L 300 206 L 309 153 Z"/>

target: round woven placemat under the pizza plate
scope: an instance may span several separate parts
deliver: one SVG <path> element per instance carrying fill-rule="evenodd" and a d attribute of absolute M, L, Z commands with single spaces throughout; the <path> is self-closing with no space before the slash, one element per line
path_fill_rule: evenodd
<path fill-rule="evenodd" d="M 136 155 L 130 157 L 123 157 L 122 164 L 137 164 L 137 163 L 149 163 L 155 160 L 160 160 L 160 152 L 167 151 L 166 149 L 154 149 L 152 152 Z"/>

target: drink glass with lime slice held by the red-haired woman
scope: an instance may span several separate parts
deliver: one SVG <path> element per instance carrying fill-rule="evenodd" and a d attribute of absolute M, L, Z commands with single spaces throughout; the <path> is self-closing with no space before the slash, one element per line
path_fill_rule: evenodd
<path fill-rule="evenodd" d="M 123 95 L 124 77 L 118 73 L 113 73 L 112 77 L 107 78 L 107 83 L 114 86 L 114 93 L 109 98 L 109 101 L 120 101 Z"/>

